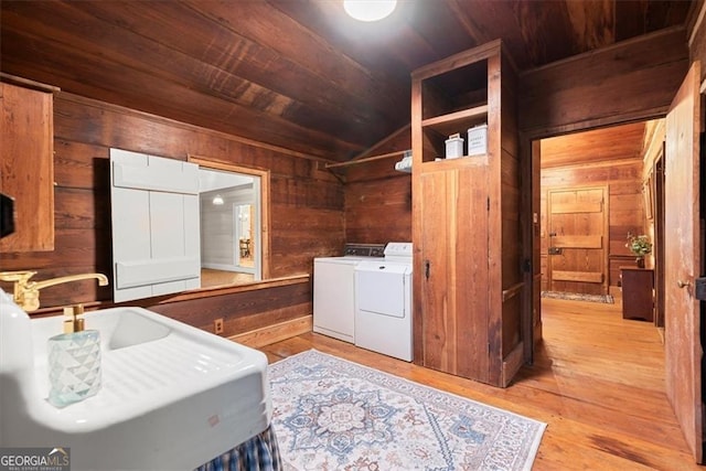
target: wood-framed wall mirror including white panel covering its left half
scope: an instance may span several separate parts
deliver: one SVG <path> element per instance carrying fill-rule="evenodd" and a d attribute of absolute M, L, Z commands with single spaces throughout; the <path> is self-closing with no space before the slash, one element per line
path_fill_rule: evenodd
<path fill-rule="evenodd" d="M 114 300 L 269 276 L 269 172 L 110 149 Z"/>

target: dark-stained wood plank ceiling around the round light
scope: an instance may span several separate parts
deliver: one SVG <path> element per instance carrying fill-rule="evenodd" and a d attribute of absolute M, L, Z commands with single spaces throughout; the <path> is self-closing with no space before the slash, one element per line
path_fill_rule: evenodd
<path fill-rule="evenodd" d="M 0 2 L 2 72 L 334 161 L 409 122 L 409 74 L 502 39 L 521 69 L 684 24 L 691 1 Z"/>

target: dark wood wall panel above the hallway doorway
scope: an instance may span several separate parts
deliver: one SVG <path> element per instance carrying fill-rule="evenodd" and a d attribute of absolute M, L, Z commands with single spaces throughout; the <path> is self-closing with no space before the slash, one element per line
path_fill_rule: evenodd
<path fill-rule="evenodd" d="M 520 129 L 547 137 L 665 115 L 688 58 L 676 28 L 525 72 Z"/>

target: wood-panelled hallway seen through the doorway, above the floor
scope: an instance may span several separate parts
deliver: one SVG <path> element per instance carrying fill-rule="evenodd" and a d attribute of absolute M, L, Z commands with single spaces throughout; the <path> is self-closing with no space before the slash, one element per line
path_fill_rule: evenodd
<path fill-rule="evenodd" d="M 656 213 L 662 211 L 664 135 L 664 119 L 654 119 L 533 146 L 541 189 L 542 297 L 620 304 L 622 274 L 638 267 L 629 237 L 639 235 L 652 247 L 644 259 L 661 299 L 662 224 Z M 655 302 L 630 318 L 655 321 L 657 307 Z"/>

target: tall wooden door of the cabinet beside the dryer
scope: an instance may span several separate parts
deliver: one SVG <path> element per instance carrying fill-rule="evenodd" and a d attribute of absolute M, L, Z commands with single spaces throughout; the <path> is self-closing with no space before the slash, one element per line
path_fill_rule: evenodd
<path fill-rule="evenodd" d="M 482 169 L 424 172 L 415 221 L 415 362 L 488 383 L 488 192 Z M 479 254 L 483 254 L 480 256 Z"/>

